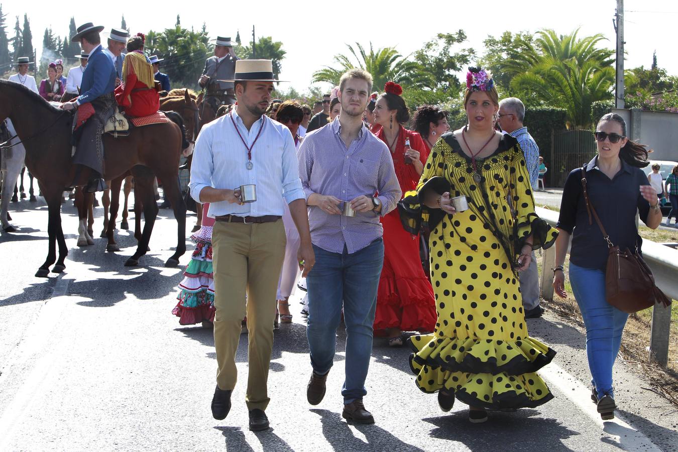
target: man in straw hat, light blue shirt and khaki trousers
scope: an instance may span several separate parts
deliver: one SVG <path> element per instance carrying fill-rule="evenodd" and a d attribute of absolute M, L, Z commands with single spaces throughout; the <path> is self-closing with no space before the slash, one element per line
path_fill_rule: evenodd
<path fill-rule="evenodd" d="M 235 75 L 226 82 L 234 83 L 237 106 L 201 130 L 189 184 L 193 199 L 210 203 L 207 216 L 216 220 L 212 262 L 218 370 L 212 415 L 224 419 L 231 409 L 231 391 L 237 379 L 235 354 L 246 314 L 250 368 L 245 400 L 250 430 L 268 428 L 266 382 L 273 349 L 275 295 L 285 256 L 283 203 L 290 205 L 299 231 L 298 260 L 303 276 L 315 262 L 292 134 L 264 115 L 274 81 L 271 60 L 235 63 Z M 233 189 L 238 186 L 243 190 Z"/>

